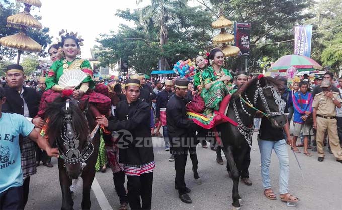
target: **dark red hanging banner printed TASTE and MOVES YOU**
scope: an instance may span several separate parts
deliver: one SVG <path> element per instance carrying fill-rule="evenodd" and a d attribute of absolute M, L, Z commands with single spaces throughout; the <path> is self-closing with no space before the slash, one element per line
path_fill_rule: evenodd
<path fill-rule="evenodd" d="M 250 23 L 234 23 L 235 46 L 240 48 L 241 55 L 250 54 Z"/>

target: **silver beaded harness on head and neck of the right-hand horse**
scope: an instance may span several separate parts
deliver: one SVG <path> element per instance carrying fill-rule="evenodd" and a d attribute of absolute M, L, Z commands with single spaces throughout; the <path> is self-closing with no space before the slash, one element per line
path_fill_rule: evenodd
<path fill-rule="evenodd" d="M 269 108 L 269 105 L 267 104 L 266 102 L 266 98 L 265 98 L 265 95 L 264 95 L 264 92 L 263 90 L 265 89 L 270 89 L 271 92 L 272 92 L 272 95 L 273 95 L 273 98 L 275 100 L 275 103 L 278 105 L 278 109 L 279 111 L 278 112 L 271 112 L 270 108 Z M 255 106 L 257 105 L 257 102 L 258 102 L 258 96 L 260 95 L 260 98 L 261 98 L 261 101 L 263 103 L 263 106 L 265 107 L 265 110 L 266 110 L 266 113 L 258 110 Z M 253 100 L 253 104 L 252 102 L 249 100 L 249 98 L 247 97 L 247 94 L 244 93 L 244 97 L 246 99 L 244 99 L 242 97 L 241 94 L 239 94 L 239 97 L 240 97 L 240 103 L 241 103 L 241 107 L 242 107 L 242 110 L 248 115 L 248 116 L 252 116 L 254 117 L 254 115 L 250 114 L 246 109 L 245 109 L 245 106 L 244 104 L 246 104 L 248 107 L 256 110 L 256 111 L 259 111 L 260 113 L 262 113 L 265 117 L 270 117 L 270 116 L 277 116 L 277 115 L 283 115 L 284 114 L 284 109 L 285 109 L 285 101 L 281 98 L 280 96 L 280 93 L 278 91 L 277 88 L 275 88 L 274 86 L 272 85 L 266 85 L 264 87 L 260 87 L 260 84 L 259 84 L 259 81 L 257 83 L 257 90 L 255 91 L 255 94 L 254 94 L 254 100 Z M 253 136 L 253 127 L 247 127 L 243 124 L 241 118 L 240 118 L 240 115 L 238 113 L 238 110 L 237 110 L 237 107 L 236 107 L 236 102 L 235 100 L 233 100 L 233 109 L 234 109 L 234 114 L 235 114 L 235 117 L 236 117 L 236 120 L 237 120 L 237 129 L 238 131 L 240 132 L 240 134 L 242 134 L 244 136 L 244 138 L 246 139 L 249 147 L 251 148 L 251 138 Z"/>

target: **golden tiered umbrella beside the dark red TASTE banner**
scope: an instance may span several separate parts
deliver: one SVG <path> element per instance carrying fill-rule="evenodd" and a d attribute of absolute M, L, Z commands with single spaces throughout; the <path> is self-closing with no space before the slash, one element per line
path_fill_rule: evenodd
<path fill-rule="evenodd" d="M 227 44 L 234 40 L 234 35 L 228 34 L 225 27 L 233 25 L 233 22 L 226 19 L 224 16 L 220 16 L 216 21 L 214 21 L 211 26 L 215 29 L 221 29 L 221 32 L 213 38 L 214 43 L 221 43 L 221 50 L 224 53 L 224 56 L 236 56 L 239 54 L 240 49 L 235 46 L 231 46 Z"/>

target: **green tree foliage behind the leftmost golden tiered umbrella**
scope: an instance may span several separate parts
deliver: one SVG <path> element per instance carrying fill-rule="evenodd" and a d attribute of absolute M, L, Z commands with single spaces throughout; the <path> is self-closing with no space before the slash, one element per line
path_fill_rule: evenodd
<path fill-rule="evenodd" d="M 7 27 L 7 17 L 10 15 L 14 15 L 23 10 L 20 7 L 20 4 L 13 4 L 9 1 L 3 0 L 0 1 L 0 38 L 13 35 L 19 32 L 19 29 Z M 41 16 L 35 16 L 38 20 L 41 20 Z M 45 48 L 51 44 L 51 38 L 48 35 L 49 28 L 43 27 L 41 30 L 37 29 L 28 29 L 26 34 L 38 42 L 42 46 L 42 51 L 39 53 L 35 53 L 37 56 L 46 57 L 48 54 L 44 52 Z M 14 59 L 17 56 L 18 50 L 10 49 L 0 45 L 0 59 Z M 25 52 L 25 54 L 31 54 L 29 52 Z"/>

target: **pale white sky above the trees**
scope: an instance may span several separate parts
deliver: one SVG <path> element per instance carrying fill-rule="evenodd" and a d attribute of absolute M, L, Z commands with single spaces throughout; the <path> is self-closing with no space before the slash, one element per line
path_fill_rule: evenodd
<path fill-rule="evenodd" d="M 40 0 L 41 8 L 31 9 L 31 15 L 40 15 L 43 27 L 50 29 L 49 35 L 53 36 L 52 42 L 57 42 L 56 38 L 61 29 L 68 32 L 78 32 L 84 39 L 81 46 L 81 57 L 91 58 L 90 48 L 98 45 L 95 41 L 99 34 L 109 34 L 110 31 L 117 31 L 120 23 L 134 26 L 133 22 L 128 22 L 116 17 L 117 9 L 136 8 L 146 6 L 149 0 L 143 0 L 139 5 L 136 0 Z M 14 0 L 12 0 L 14 2 Z M 21 8 L 24 10 L 24 7 Z M 46 49 L 47 50 L 47 49 Z"/>

